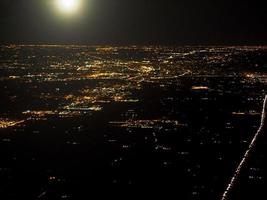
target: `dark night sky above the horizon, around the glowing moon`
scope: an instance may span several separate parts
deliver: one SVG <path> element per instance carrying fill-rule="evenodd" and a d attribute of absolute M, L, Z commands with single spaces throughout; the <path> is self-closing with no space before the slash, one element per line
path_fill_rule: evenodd
<path fill-rule="evenodd" d="M 1 43 L 267 44 L 260 0 L 83 0 L 63 16 L 55 0 L 1 0 Z"/>

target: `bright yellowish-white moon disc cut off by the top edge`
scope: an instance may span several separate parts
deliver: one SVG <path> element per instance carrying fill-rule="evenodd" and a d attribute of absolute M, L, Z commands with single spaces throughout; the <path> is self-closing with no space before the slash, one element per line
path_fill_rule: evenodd
<path fill-rule="evenodd" d="M 80 8 L 80 0 L 57 0 L 57 6 L 61 12 L 74 13 Z"/>

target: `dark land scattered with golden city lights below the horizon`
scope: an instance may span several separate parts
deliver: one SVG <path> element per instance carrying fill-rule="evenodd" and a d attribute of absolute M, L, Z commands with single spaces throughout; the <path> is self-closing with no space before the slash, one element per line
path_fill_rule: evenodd
<path fill-rule="evenodd" d="M 266 47 L 0 46 L 0 199 L 220 199 L 266 72 Z M 233 199 L 266 199 L 260 143 Z"/>

